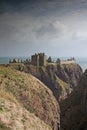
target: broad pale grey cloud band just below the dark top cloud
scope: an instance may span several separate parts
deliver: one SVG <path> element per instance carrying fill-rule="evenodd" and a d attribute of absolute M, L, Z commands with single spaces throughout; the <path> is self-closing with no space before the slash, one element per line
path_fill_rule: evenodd
<path fill-rule="evenodd" d="M 79 40 L 80 37 L 86 37 L 87 29 L 87 23 L 83 19 L 79 21 L 81 16 L 83 13 L 80 16 L 75 13 L 59 17 L 56 14 L 51 17 L 34 17 L 30 12 L 3 13 L 0 14 L 0 41 L 11 44 L 39 44 L 48 41 L 49 44 L 56 44 Z"/>

